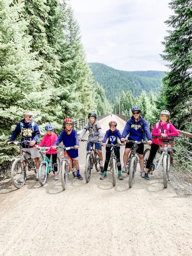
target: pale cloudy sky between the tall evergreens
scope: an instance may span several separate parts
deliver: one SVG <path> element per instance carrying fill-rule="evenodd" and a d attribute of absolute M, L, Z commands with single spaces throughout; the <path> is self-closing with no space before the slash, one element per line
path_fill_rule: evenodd
<path fill-rule="evenodd" d="M 120 70 L 163 70 L 171 0 L 71 0 L 88 62 Z"/>

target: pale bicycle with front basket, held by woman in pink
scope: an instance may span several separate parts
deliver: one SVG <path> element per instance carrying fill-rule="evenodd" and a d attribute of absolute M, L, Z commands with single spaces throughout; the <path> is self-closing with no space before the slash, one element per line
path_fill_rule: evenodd
<path fill-rule="evenodd" d="M 160 159 L 157 158 L 157 154 L 155 158 L 153 159 L 153 162 L 150 164 L 148 174 L 153 174 L 154 170 L 157 170 L 160 166 L 160 164 L 163 164 L 163 184 L 164 188 L 167 188 L 168 185 L 168 177 L 169 177 L 169 164 L 170 164 L 170 154 L 168 152 L 172 151 L 172 146 L 174 144 L 174 138 L 157 138 L 159 142 L 159 151 L 161 151 Z M 144 157 L 144 167 L 146 167 L 146 163 L 149 157 L 150 149 L 145 149 L 143 153 Z"/>

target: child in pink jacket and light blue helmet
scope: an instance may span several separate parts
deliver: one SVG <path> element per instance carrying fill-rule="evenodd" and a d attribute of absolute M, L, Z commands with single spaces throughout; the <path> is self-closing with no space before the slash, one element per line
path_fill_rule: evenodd
<path fill-rule="evenodd" d="M 47 124 L 45 126 L 45 131 L 47 131 L 47 134 L 45 134 L 43 140 L 39 143 L 39 147 L 51 147 L 55 143 L 55 141 L 58 139 L 58 136 L 56 133 L 53 132 L 54 126 L 52 124 Z M 46 156 L 50 159 L 52 155 L 52 163 L 53 163 L 53 169 L 55 172 L 55 179 L 59 180 L 57 175 L 57 152 L 55 149 L 50 148 L 49 151 L 46 153 Z"/>

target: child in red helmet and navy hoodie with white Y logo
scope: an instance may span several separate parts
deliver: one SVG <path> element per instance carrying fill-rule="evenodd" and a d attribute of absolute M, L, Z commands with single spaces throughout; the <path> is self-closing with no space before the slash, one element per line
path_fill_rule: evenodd
<path fill-rule="evenodd" d="M 103 143 L 102 146 L 106 146 L 106 141 L 108 139 L 107 144 L 117 144 L 117 140 L 118 138 L 121 139 L 121 133 L 119 132 L 119 130 L 116 129 L 117 126 L 117 122 L 116 121 L 110 121 L 109 122 L 109 130 L 107 130 L 107 132 L 105 133 L 105 137 L 103 139 Z M 124 143 L 122 143 L 122 145 L 124 145 Z M 116 147 L 115 150 L 115 155 L 117 158 L 117 169 L 118 169 L 118 178 L 119 180 L 123 180 L 123 177 L 121 175 L 121 162 L 120 162 L 120 147 Z M 110 161 L 110 156 L 111 156 L 111 147 L 106 147 L 106 158 L 105 158 L 105 164 L 104 164 L 104 172 L 100 177 L 100 180 L 104 180 L 105 178 L 107 178 L 107 168 L 108 168 L 108 164 Z"/>

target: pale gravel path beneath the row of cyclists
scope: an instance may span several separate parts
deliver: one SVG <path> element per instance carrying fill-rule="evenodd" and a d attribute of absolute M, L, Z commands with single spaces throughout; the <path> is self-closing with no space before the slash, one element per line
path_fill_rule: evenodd
<path fill-rule="evenodd" d="M 116 118 L 100 121 L 104 133 L 111 119 L 123 130 Z M 84 177 L 84 142 L 79 162 Z M 34 174 L 18 190 L 1 181 L 0 255 L 192 255 L 192 198 L 164 189 L 162 177 L 144 180 L 138 169 L 130 189 L 127 174 L 113 187 L 110 173 L 100 180 L 93 169 L 89 183 L 69 173 L 65 191 L 53 174 L 43 187 Z"/>

